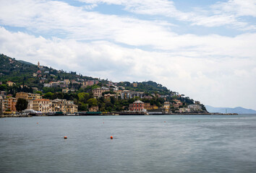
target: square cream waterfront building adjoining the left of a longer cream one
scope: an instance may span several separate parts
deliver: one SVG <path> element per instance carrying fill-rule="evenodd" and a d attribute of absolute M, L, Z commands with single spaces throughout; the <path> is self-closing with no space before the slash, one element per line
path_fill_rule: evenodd
<path fill-rule="evenodd" d="M 40 112 L 52 112 L 50 99 L 34 99 L 33 110 Z"/>

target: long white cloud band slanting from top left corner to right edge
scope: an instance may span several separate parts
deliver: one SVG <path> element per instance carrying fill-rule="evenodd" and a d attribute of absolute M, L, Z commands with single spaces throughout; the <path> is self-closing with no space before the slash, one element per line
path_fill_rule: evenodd
<path fill-rule="evenodd" d="M 91 0 L 91 2 L 95 3 L 99 0 Z M 153 4 L 154 2 L 152 0 Z M 166 6 L 173 6 L 170 1 L 160 2 L 166 3 Z M 108 1 L 108 3 L 141 6 L 141 4 L 145 4 L 145 1 L 130 1 L 129 3 L 127 1 Z M 155 4 L 155 10 L 160 12 L 161 5 Z M 255 56 L 255 51 L 252 48 L 252 45 L 255 45 L 255 41 L 252 39 L 255 38 L 253 33 L 234 38 L 218 35 L 202 37 L 189 34 L 177 35 L 171 31 L 172 25 L 166 22 L 88 12 L 82 7 L 70 6 L 60 1 L 22 1 L 22 3 L 20 1 L 17 3 L 5 1 L 3 6 L 0 7 L 1 10 L 3 9 L 0 19 L 4 25 L 25 27 L 27 30 L 33 30 L 33 32 L 57 35 L 55 37 L 64 37 L 69 40 L 86 40 L 89 42 L 106 40 L 111 43 L 122 43 L 138 48 L 148 47 L 151 50 L 168 52 L 179 50 L 183 55 L 191 57 Z M 208 22 L 204 25 L 211 25 L 220 18 L 197 20 L 201 22 L 207 20 Z M 223 17 L 221 21 L 216 23 L 225 21 L 231 21 L 231 19 Z"/>

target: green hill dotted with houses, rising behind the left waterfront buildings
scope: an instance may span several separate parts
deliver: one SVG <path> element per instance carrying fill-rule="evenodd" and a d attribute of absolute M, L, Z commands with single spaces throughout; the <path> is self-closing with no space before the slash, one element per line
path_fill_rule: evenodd
<path fill-rule="evenodd" d="M 200 102 L 154 81 L 108 81 L 40 66 L 39 62 L 18 61 L 4 54 L 0 54 L 0 64 L 0 91 L 8 97 L 27 93 L 48 100 L 72 100 L 78 111 L 129 111 L 140 100 L 149 112 L 207 112 Z"/>

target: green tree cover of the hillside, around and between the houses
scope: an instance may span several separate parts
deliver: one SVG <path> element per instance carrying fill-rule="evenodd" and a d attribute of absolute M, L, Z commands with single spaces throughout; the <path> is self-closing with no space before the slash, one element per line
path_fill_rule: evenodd
<path fill-rule="evenodd" d="M 135 99 L 121 99 L 111 97 L 106 100 L 103 97 L 95 99 L 92 90 L 101 86 L 107 86 L 111 89 L 111 94 L 114 94 L 114 88 L 119 90 L 130 90 L 134 92 L 144 92 L 150 98 L 142 98 L 142 102 L 150 103 L 162 107 L 163 103 L 168 101 L 176 103 L 176 99 L 182 102 L 179 107 L 187 107 L 194 104 L 194 100 L 184 95 L 177 94 L 167 89 L 161 84 L 154 81 L 133 82 L 122 81 L 112 82 L 104 79 L 96 79 L 90 76 L 82 76 L 74 71 L 56 70 L 47 66 L 38 66 L 26 61 L 17 61 L 15 58 L 10 58 L 4 54 L 0 54 L 0 91 L 6 91 L 7 94 L 15 94 L 17 92 L 33 92 L 40 93 L 43 98 L 47 99 L 69 99 L 74 100 L 78 105 L 79 111 L 88 110 L 89 107 L 98 106 L 100 111 L 119 111 L 127 110 L 129 104 L 135 102 Z M 68 86 L 61 86 L 64 79 L 69 79 Z M 7 81 L 14 82 L 14 86 L 8 86 Z M 82 86 L 85 82 L 97 81 L 94 84 Z M 46 86 L 46 84 L 56 82 L 58 86 Z M 44 86 L 45 85 L 45 86 Z M 69 92 L 63 93 L 62 89 L 69 89 Z M 107 94 L 107 93 L 105 93 Z M 203 110 L 205 107 L 202 105 Z M 179 110 L 177 107 L 171 108 L 174 112 Z"/>

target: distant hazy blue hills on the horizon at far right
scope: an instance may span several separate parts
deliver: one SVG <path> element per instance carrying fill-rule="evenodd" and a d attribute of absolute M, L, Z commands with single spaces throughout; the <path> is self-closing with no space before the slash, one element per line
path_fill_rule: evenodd
<path fill-rule="evenodd" d="M 205 106 L 208 112 L 219 112 L 219 113 L 238 113 L 238 114 L 256 114 L 256 110 L 245 109 L 244 107 L 211 107 Z"/>

